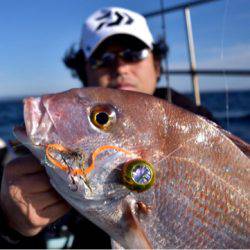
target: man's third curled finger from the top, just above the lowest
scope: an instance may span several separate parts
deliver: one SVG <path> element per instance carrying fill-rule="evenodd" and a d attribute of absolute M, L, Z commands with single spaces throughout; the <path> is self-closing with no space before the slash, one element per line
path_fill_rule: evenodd
<path fill-rule="evenodd" d="M 46 207 L 63 201 L 63 198 L 52 189 L 48 192 L 31 194 L 24 199 L 27 203 L 30 203 L 35 208 L 35 210 L 43 210 Z"/>

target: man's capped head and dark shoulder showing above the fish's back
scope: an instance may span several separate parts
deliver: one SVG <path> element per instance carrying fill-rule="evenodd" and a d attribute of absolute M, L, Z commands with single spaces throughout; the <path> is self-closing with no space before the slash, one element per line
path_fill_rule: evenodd
<path fill-rule="evenodd" d="M 121 8 L 106 8 L 90 16 L 83 27 L 80 49 L 71 49 L 64 62 L 85 86 L 166 98 L 167 89 L 156 89 L 166 53 L 167 46 L 153 40 L 144 17 Z M 174 104 L 213 120 L 204 107 L 195 106 L 173 89 L 171 95 Z"/>

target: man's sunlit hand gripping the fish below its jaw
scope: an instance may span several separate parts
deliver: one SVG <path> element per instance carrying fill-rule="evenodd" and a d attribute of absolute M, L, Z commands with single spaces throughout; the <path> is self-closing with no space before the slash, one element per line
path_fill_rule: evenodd
<path fill-rule="evenodd" d="M 9 226 L 24 236 L 38 234 L 70 210 L 33 156 L 7 164 L 0 199 Z"/>

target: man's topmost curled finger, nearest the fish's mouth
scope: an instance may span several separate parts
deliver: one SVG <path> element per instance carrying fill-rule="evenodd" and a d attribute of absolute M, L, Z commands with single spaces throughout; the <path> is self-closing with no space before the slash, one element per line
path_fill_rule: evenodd
<path fill-rule="evenodd" d="M 28 155 L 9 162 L 6 171 L 12 175 L 25 175 L 44 171 L 44 168 L 34 156 Z"/>

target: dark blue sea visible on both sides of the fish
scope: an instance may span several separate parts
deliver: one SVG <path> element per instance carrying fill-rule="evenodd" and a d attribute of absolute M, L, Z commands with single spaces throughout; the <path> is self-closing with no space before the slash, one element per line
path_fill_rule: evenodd
<path fill-rule="evenodd" d="M 202 93 L 201 101 L 212 112 L 219 125 L 250 143 L 250 90 L 230 91 L 228 98 L 225 92 Z M 0 101 L 0 138 L 5 141 L 14 139 L 12 128 L 17 124 L 23 124 L 22 101 Z"/>

